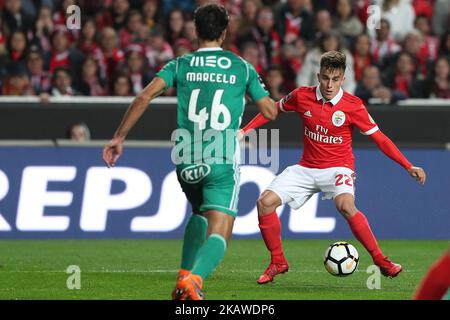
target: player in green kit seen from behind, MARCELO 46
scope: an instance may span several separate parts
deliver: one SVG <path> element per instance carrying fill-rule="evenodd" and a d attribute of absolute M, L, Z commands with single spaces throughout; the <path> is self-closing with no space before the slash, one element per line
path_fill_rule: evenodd
<path fill-rule="evenodd" d="M 245 95 L 267 119 L 277 115 L 275 103 L 254 67 L 222 50 L 228 21 L 221 5 L 208 4 L 195 11 L 199 49 L 175 58 L 158 72 L 134 99 L 103 150 L 103 160 L 114 166 L 125 137 L 150 101 L 164 90 L 177 87 L 175 162 L 178 181 L 193 214 L 185 229 L 181 268 L 172 292 L 175 300 L 204 299 L 203 281 L 221 262 L 231 237 L 239 193 L 236 133 Z M 197 152 L 199 147 L 203 152 Z"/>

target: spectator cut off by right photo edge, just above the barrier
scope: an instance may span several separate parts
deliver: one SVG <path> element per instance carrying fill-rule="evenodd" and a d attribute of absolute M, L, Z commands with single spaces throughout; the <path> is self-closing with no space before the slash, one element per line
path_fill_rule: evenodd
<path fill-rule="evenodd" d="M 450 99 L 450 59 L 439 57 L 422 85 L 423 98 Z"/>

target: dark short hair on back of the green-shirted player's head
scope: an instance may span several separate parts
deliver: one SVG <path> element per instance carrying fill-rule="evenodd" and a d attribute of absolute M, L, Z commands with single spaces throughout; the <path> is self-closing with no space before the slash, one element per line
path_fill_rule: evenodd
<path fill-rule="evenodd" d="M 227 9 L 218 4 L 207 4 L 195 10 L 194 23 L 198 37 L 214 41 L 220 38 L 228 27 L 230 17 Z"/>

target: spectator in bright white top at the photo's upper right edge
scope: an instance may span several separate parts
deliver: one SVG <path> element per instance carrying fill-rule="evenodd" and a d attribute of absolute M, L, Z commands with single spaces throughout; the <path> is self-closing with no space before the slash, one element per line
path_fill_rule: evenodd
<path fill-rule="evenodd" d="M 392 38 L 402 42 L 406 34 L 414 27 L 416 17 L 409 0 L 382 0 L 381 17 L 388 20 Z"/>

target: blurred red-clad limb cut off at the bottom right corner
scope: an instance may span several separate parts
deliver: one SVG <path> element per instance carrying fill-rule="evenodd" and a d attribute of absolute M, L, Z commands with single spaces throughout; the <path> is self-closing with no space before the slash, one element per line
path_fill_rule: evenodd
<path fill-rule="evenodd" d="M 415 300 L 440 300 L 450 287 L 450 253 L 439 258 L 422 280 Z"/>

